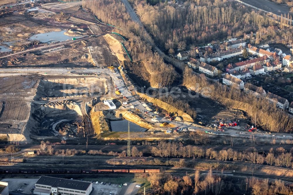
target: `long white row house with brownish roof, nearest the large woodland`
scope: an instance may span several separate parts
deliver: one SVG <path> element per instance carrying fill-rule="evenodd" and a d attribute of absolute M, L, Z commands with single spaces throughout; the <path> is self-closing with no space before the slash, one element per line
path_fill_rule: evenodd
<path fill-rule="evenodd" d="M 202 62 L 210 62 L 210 61 L 222 61 L 223 59 L 238 56 L 243 53 L 242 48 L 229 49 L 225 51 L 220 51 L 212 54 L 205 54 L 200 57 L 200 61 Z"/>

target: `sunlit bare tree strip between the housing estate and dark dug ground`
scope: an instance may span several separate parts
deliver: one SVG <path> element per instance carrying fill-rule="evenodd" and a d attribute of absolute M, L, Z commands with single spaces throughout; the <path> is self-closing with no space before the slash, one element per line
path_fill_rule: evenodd
<path fill-rule="evenodd" d="M 195 83 L 198 87 L 195 88 Z M 265 131 L 292 132 L 293 119 L 281 111 L 276 105 L 265 98 L 256 98 L 251 94 L 244 94 L 232 86 L 222 83 L 211 83 L 202 74 L 197 76 L 191 68 L 186 67 L 183 74 L 183 85 L 199 93 L 209 96 L 212 100 L 221 102 L 226 107 L 241 109 L 251 118 L 251 122 Z M 203 91 L 202 89 L 205 89 Z"/>

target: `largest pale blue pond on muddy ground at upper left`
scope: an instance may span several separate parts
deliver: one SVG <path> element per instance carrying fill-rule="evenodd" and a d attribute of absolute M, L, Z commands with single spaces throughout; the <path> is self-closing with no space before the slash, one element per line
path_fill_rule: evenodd
<path fill-rule="evenodd" d="M 52 42 L 62 42 L 66 40 L 71 40 L 73 38 L 68 35 L 64 35 L 64 32 L 66 32 L 66 30 L 57 31 L 57 32 L 52 31 L 49 33 L 40 33 L 40 34 L 31 36 L 29 39 L 34 41 L 40 41 L 42 43 L 52 43 Z M 76 37 L 80 37 L 80 36 L 76 36 Z"/>

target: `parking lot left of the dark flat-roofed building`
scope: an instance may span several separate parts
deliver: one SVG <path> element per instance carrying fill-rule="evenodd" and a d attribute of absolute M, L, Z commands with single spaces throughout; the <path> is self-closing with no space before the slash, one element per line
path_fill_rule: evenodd
<path fill-rule="evenodd" d="M 38 179 L 2 179 L 1 181 L 8 183 L 8 189 L 10 192 L 33 194 L 31 188 L 35 185 Z M 25 185 L 25 183 L 28 185 Z M 17 191 L 18 189 L 23 191 Z"/>

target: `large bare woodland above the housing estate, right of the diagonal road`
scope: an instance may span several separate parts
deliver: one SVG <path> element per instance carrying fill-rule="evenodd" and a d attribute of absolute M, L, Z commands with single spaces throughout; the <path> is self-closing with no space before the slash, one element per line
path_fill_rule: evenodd
<path fill-rule="evenodd" d="M 181 41 L 202 44 L 227 36 L 243 36 L 273 24 L 268 17 L 232 1 L 191 1 L 182 7 L 164 3 L 151 6 L 138 0 L 134 4 L 155 41 L 173 51 Z"/>

